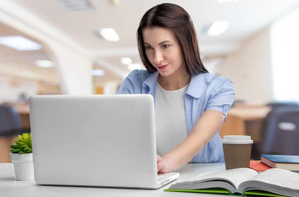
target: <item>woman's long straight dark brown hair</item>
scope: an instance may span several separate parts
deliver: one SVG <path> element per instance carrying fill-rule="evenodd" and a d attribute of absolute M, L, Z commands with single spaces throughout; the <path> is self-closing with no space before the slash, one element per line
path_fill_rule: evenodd
<path fill-rule="evenodd" d="M 146 27 L 163 27 L 172 31 L 181 47 L 188 75 L 208 72 L 204 67 L 200 54 L 196 31 L 190 15 L 184 8 L 172 3 L 162 3 L 150 8 L 141 18 L 137 30 L 137 43 L 140 58 L 148 72 L 157 69 L 151 65 L 146 55 L 142 31 Z"/>

